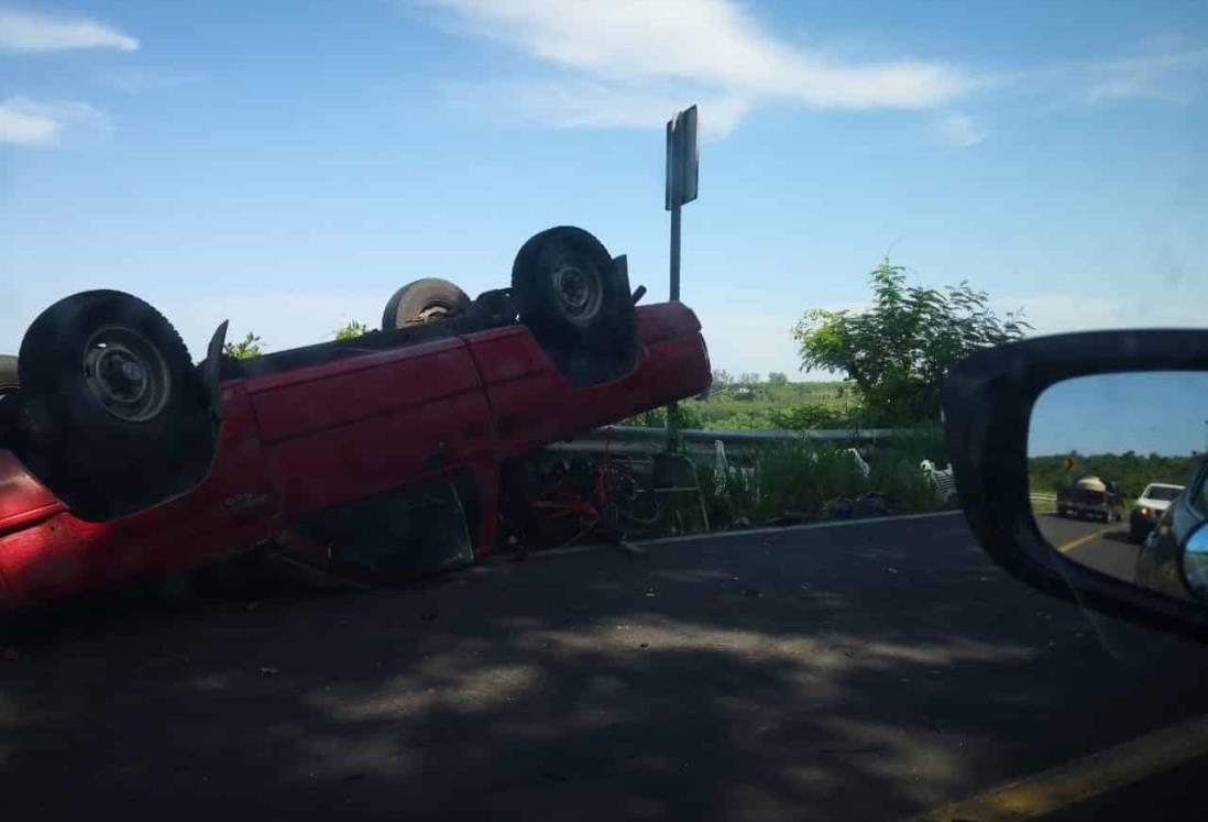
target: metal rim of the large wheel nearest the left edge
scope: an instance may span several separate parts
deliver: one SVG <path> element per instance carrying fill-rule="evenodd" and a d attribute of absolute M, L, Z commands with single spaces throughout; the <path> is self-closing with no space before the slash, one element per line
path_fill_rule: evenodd
<path fill-rule="evenodd" d="M 172 375 L 159 349 L 134 329 L 109 325 L 83 349 L 83 380 L 105 411 L 126 422 L 146 422 L 163 411 Z"/>

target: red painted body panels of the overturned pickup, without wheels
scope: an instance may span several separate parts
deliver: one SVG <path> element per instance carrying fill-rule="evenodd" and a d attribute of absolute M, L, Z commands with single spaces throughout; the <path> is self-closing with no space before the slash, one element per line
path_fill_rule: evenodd
<path fill-rule="evenodd" d="M 454 474 L 471 480 L 469 533 L 486 554 L 505 461 L 708 387 L 691 309 L 643 306 L 637 320 L 634 367 L 581 388 L 518 324 L 225 381 L 205 477 L 106 522 L 75 516 L 0 450 L 0 603 L 202 565 L 286 534 L 298 517 Z"/>

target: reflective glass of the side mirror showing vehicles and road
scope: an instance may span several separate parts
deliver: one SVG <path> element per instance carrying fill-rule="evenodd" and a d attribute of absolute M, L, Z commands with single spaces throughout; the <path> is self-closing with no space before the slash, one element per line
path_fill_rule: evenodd
<path fill-rule="evenodd" d="M 1184 574 L 1184 549 L 1203 522 L 1202 494 L 1189 486 L 1206 453 L 1206 372 L 1056 383 L 1036 399 L 1028 432 L 1036 526 L 1053 550 L 1080 565 L 1200 598 Z"/>

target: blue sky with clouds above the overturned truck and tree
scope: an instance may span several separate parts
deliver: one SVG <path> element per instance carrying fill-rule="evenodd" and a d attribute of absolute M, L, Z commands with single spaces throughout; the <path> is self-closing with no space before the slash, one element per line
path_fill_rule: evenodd
<path fill-rule="evenodd" d="M 1038 332 L 1202 325 L 1208 6 L 0 0 L 0 351 L 86 288 L 280 349 L 575 224 L 667 294 L 662 123 L 699 103 L 684 299 L 796 365 L 885 255 Z"/>

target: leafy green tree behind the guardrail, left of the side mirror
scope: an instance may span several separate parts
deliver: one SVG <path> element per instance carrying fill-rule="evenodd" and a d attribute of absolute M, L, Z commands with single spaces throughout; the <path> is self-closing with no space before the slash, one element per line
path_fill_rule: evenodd
<path fill-rule="evenodd" d="M 968 283 L 942 290 L 906 285 L 889 260 L 870 274 L 872 307 L 807 311 L 794 326 L 802 370 L 841 371 L 856 386 L 869 423 L 936 421 L 945 370 L 965 354 L 1018 340 L 1021 312 L 999 318 Z"/>

